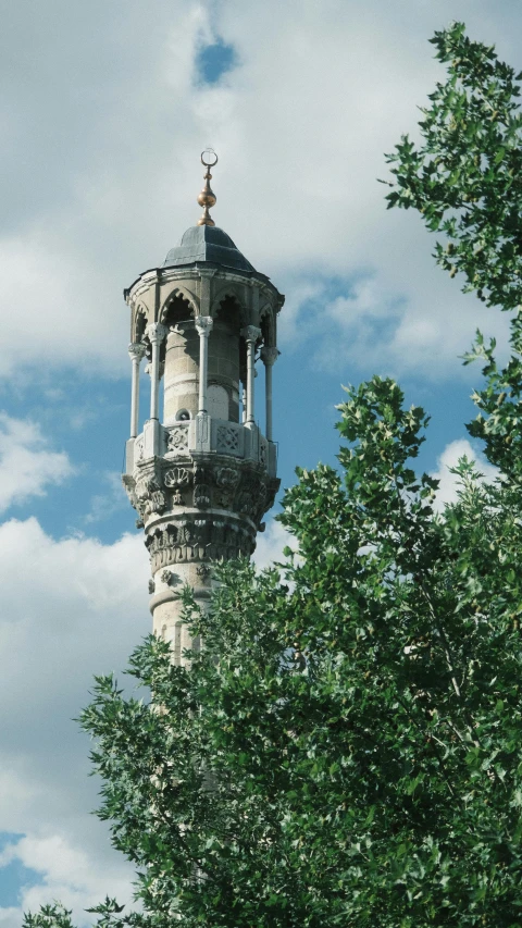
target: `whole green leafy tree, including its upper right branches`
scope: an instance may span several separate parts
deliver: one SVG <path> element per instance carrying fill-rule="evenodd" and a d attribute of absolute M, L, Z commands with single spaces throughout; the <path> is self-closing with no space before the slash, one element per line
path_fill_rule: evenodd
<path fill-rule="evenodd" d="M 412 466 L 423 410 L 389 380 L 348 388 L 339 472 L 300 470 L 285 495 L 299 554 L 220 568 L 207 615 L 187 591 L 206 647 L 173 667 L 148 639 L 129 666 L 142 701 L 97 680 L 82 725 L 141 904 L 105 900 L 103 928 L 522 921 L 518 86 L 460 24 L 434 42 L 448 81 L 423 147 L 390 157 L 388 200 L 442 228 L 437 260 L 467 288 L 514 310 L 506 368 L 482 336 L 470 355 L 485 374 L 470 431 L 498 479 L 463 459 L 437 514 Z"/>

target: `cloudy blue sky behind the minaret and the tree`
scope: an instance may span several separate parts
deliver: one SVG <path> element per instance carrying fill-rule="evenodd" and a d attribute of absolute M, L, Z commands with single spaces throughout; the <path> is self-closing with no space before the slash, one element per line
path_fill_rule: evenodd
<path fill-rule="evenodd" d="M 387 211 L 376 181 L 417 137 L 444 78 L 427 39 L 451 20 L 521 70 L 518 0 L 3 1 L 0 928 L 53 899 L 83 926 L 105 894 L 132 898 L 73 719 L 151 627 L 120 478 L 122 292 L 196 223 L 203 148 L 216 224 L 286 294 L 282 486 L 336 463 L 341 384 L 373 373 L 432 414 L 420 466 L 444 498 L 448 467 L 481 461 L 464 428 L 480 370 L 459 356 L 477 326 L 505 343 L 506 319 L 435 268 L 419 216 Z M 269 518 L 257 562 L 284 544 Z"/>

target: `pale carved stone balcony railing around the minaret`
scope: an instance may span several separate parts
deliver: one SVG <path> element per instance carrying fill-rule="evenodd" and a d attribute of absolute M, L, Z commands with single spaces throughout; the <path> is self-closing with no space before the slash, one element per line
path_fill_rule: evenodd
<path fill-rule="evenodd" d="M 133 474 L 141 461 L 161 457 L 176 460 L 210 455 L 225 456 L 260 465 L 269 477 L 277 469 L 276 445 L 254 424 L 244 425 L 199 413 L 188 421 L 162 425 L 149 419 L 141 434 L 126 445 L 126 473 Z"/>

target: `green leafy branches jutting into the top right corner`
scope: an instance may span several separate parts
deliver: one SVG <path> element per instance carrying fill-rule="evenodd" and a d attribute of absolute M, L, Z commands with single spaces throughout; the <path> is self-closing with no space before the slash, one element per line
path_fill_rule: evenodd
<path fill-rule="evenodd" d="M 522 74 L 495 49 L 472 41 L 463 23 L 435 33 L 447 81 L 428 95 L 422 143 L 402 136 L 388 161 L 396 185 L 388 207 L 413 207 L 447 244 L 436 259 L 464 289 L 501 309 L 522 302 Z"/>

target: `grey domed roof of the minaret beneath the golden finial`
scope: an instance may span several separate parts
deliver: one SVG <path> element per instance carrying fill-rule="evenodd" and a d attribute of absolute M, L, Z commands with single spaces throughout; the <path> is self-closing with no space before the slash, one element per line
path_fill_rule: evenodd
<path fill-rule="evenodd" d="M 209 261 L 235 271 L 256 270 L 236 248 L 229 235 L 215 225 L 192 225 L 187 228 L 179 245 L 169 251 L 163 267 L 175 268 L 197 261 Z"/>

